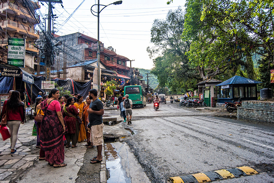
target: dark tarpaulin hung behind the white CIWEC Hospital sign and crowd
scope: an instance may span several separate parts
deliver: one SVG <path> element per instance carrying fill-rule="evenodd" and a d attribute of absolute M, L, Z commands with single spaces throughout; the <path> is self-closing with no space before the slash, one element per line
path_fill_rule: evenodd
<path fill-rule="evenodd" d="M 33 75 L 32 75 L 33 76 Z M 7 77 L 8 78 L 8 77 Z M 46 78 L 44 76 L 33 76 L 33 86 L 32 86 L 32 101 L 35 101 L 35 98 L 38 97 L 39 92 L 44 93 L 45 90 L 41 89 L 41 83 L 42 81 L 45 81 Z M 84 97 L 86 97 L 89 93 L 89 90 L 91 88 L 91 81 L 88 83 L 85 83 L 84 85 L 81 85 L 77 83 L 76 81 L 73 81 L 72 79 L 51 79 L 51 81 L 54 81 L 58 84 L 58 86 L 63 87 L 64 90 L 68 90 L 71 94 L 74 93 L 80 93 Z M 30 90 L 30 84 L 26 83 L 26 90 L 27 93 L 31 93 Z M 29 96 L 30 97 L 30 96 Z"/>

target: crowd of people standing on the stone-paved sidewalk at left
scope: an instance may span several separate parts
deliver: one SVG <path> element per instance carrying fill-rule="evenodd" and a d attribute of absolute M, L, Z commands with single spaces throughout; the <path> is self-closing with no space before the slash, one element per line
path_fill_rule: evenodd
<path fill-rule="evenodd" d="M 36 115 L 43 116 L 41 121 L 35 121 L 36 147 L 40 148 L 39 160 L 46 160 L 54 168 L 65 167 L 64 147 L 75 148 L 77 142 L 86 140 L 87 148 L 97 147 L 97 156 L 90 163 L 101 162 L 104 108 L 97 97 L 97 90 L 89 90 L 86 102 L 81 95 L 77 95 L 76 102 L 68 95 L 60 96 L 57 89 L 52 89 L 49 95 L 40 96 L 36 98 L 35 104 Z M 18 91 L 10 92 L 9 98 L 4 102 L 0 120 L 5 110 L 7 123 L 1 123 L 1 126 L 7 125 L 10 129 L 11 154 L 14 154 L 19 126 L 25 118 L 24 103 L 20 100 Z"/>

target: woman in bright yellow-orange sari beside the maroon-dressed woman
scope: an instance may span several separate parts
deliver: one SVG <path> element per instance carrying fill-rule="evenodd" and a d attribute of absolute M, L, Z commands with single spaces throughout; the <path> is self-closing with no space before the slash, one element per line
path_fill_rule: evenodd
<path fill-rule="evenodd" d="M 74 106 L 79 109 L 79 114 L 78 116 L 82 119 L 82 115 L 84 112 L 84 107 L 85 107 L 85 102 L 83 102 L 84 98 L 82 95 L 78 95 L 77 97 L 77 102 L 74 103 Z M 78 142 L 83 142 L 86 139 L 86 129 L 85 129 L 85 125 L 83 123 L 83 119 L 82 119 L 82 123 L 81 125 L 79 125 L 79 136 L 78 136 Z"/>

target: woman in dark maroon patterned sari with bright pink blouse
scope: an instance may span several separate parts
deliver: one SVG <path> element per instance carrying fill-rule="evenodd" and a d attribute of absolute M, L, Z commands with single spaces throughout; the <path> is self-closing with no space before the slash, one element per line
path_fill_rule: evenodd
<path fill-rule="evenodd" d="M 66 130 L 66 123 L 61 113 L 58 102 L 59 90 L 52 89 L 49 98 L 37 105 L 37 108 L 44 112 L 44 118 L 40 126 L 41 149 L 44 150 L 46 161 L 54 168 L 65 167 L 63 134 Z"/>

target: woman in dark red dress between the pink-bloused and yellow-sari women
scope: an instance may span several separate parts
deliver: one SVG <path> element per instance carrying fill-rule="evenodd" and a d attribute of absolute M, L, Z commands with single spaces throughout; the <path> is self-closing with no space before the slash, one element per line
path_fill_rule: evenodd
<path fill-rule="evenodd" d="M 78 136 L 79 136 L 79 124 L 76 116 L 79 114 L 79 109 L 74 105 L 74 99 L 69 97 L 66 105 L 64 106 L 65 121 L 68 125 L 68 133 L 65 134 L 67 139 L 66 148 L 70 147 L 72 142 L 72 148 L 77 147 Z"/>

